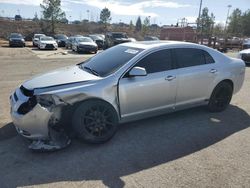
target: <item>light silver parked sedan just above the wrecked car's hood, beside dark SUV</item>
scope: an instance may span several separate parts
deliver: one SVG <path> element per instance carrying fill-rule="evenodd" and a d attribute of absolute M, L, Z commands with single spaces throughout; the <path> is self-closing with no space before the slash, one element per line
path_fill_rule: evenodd
<path fill-rule="evenodd" d="M 72 43 L 72 50 L 77 53 L 80 52 L 94 52 L 97 53 L 97 44 L 89 37 L 76 37 Z"/>

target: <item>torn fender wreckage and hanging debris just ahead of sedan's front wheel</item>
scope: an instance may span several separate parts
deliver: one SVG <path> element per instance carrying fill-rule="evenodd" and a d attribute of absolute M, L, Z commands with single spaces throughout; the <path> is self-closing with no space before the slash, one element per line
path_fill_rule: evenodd
<path fill-rule="evenodd" d="M 71 143 L 70 134 L 66 131 L 62 118 L 63 107 L 69 104 L 56 95 L 50 96 L 53 100 L 50 105 L 42 104 L 40 101 L 37 104 L 50 114 L 46 125 L 48 126 L 48 138 L 32 141 L 29 149 L 33 151 L 56 151 L 69 146 Z M 39 116 L 39 114 L 37 115 Z"/>

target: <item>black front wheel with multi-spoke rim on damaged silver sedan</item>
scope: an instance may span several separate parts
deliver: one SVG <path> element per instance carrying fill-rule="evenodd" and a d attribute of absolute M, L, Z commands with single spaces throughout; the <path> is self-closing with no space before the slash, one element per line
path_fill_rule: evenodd
<path fill-rule="evenodd" d="M 74 112 L 73 130 L 78 138 L 91 144 L 110 140 L 117 131 L 118 117 L 114 108 L 100 100 L 81 103 Z"/>

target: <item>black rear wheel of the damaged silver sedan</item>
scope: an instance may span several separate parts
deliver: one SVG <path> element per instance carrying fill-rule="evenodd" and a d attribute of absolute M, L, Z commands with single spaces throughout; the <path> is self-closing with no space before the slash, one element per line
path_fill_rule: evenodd
<path fill-rule="evenodd" d="M 208 109 L 210 112 L 221 112 L 225 110 L 233 95 L 233 87 L 228 82 L 221 82 L 215 88 L 209 99 Z"/>

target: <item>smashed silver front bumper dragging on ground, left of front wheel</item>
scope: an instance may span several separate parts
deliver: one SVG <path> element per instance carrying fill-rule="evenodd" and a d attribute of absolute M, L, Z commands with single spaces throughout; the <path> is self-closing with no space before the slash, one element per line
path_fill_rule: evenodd
<path fill-rule="evenodd" d="M 58 126 L 60 107 L 50 103 L 50 106 L 43 106 L 36 96 L 24 92 L 22 86 L 10 96 L 10 104 L 11 118 L 17 132 L 33 140 L 30 149 L 57 150 L 69 145 L 70 139 L 64 129 L 53 128 Z"/>

